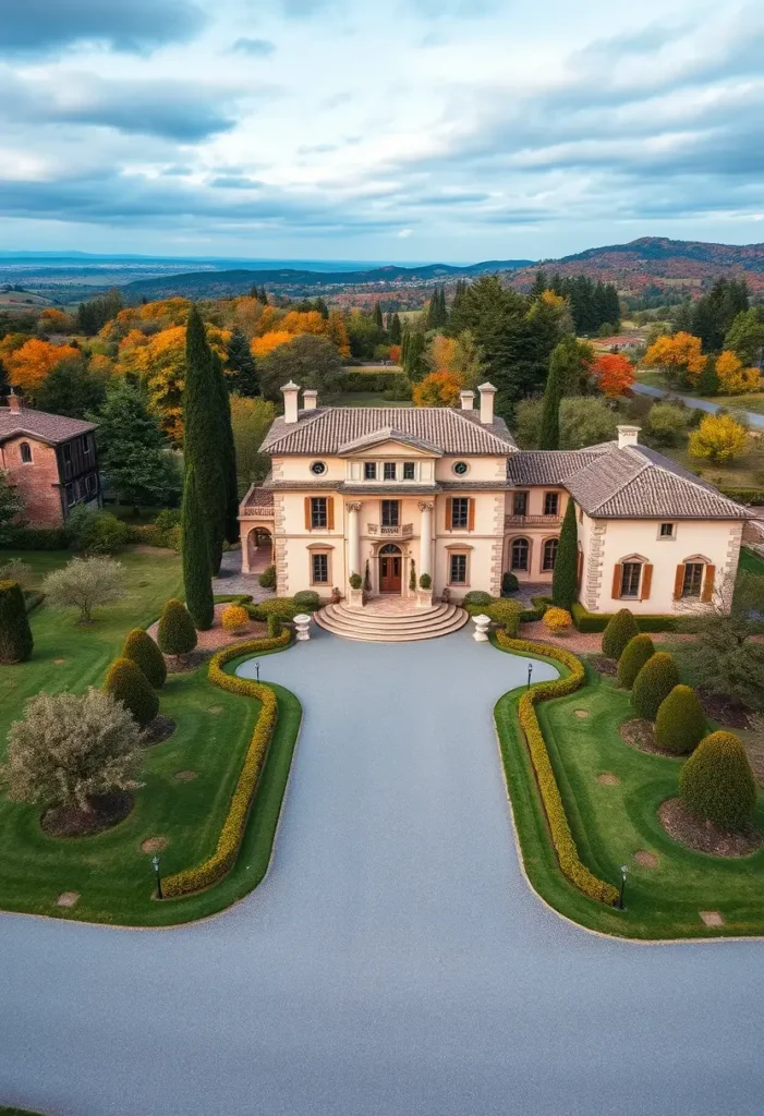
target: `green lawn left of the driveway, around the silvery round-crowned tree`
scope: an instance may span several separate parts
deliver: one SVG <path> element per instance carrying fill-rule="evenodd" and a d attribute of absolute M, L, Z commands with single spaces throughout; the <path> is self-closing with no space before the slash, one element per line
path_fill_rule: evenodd
<path fill-rule="evenodd" d="M 67 554 L 20 555 L 41 575 Z M 28 663 L 0 672 L 0 740 L 25 701 L 40 690 L 83 691 L 99 685 L 125 633 L 147 625 L 171 596 L 181 593 L 175 556 L 126 552 L 126 598 L 97 614 L 91 628 L 45 604 L 31 616 L 35 652 Z M 176 722 L 164 743 L 146 752 L 135 807 L 118 826 L 94 837 L 57 839 L 39 825 L 39 809 L 0 799 L 0 906 L 6 911 L 74 920 L 159 926 L 220 911 L 246 894 L 264 875 L 289 775 L 301 710 L 275 687 L 279 721 L 250 814 L 242 855 L 216 887 L 187 898 L 157 903 L 151 855 L 141 845 L 164 837 L 162 872 L 170 875 L 205 859 L 215 848 L 259 712 L 259 703 L 214 687 L 206 667 L 170 675 L 161 711 Z M 3 745 L 4 750 L 4 745 Z M 180 771 L 195 778 L 181 781 Z M 56 905 L 61 892 L 78 892 L 74 908 Z"/>

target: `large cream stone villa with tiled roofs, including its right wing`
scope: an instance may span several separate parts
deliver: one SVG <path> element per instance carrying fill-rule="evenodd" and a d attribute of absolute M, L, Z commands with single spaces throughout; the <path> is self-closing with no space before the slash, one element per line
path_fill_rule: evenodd
<path fill-rule="evenodd" d="M 369 597 L 415 598 L 423 574 L 454 602 L 497 596 L 507 571 L 548 586 L 573 500 L 587 609 L 670 614 L 719 596 L 728 607 L 746 509 L 640 445 L 638 427 L 584 450 L 523 451 L 494 416 L 491 384 L 477 408 L 473 392 L 461 408 L 320 407 L 312 391 L 299 407 L 296 384 L 282 392 L 262 444 L 271 473 L 240 509 L 242 570 L 272 558 L 280 595 L 351 597 L 352 574 Z"/>

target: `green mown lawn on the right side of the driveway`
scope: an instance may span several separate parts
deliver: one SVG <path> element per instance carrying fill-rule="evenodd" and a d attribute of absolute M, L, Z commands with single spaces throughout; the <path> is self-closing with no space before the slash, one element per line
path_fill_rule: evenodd
<path fill-rule="evenodd" d="M 533 771 L 516 718 L 522 691 L 505 694 L 495 716 L 525 870 L 533 887 L 567 917 L 609 934 L 637 939 L 764 934 L 764 849 L 741 859 L 705 856 L 675 844 L 660 825 L 660 804 L 677 793 L 681 761 L 629 748 L 619 724 L 632 713 L 629 695 L 612 680 L 588 672 L 577 693 L 536 706 L 539 722 L 579 855 L 603 879 L 618 884 L 628 866 L 627 910 L 588 899 L 560 872 Z M 576 710 L 587 718 L 578 718 Z M 620 780 L 603 786 L 597 777 Z M 760 795 L 756 824 L 764 829 Z M 658 857 L 641 867 L 635 853 Z M 700 911 L 719 911 L 722 927 L 707 929 Z"/>

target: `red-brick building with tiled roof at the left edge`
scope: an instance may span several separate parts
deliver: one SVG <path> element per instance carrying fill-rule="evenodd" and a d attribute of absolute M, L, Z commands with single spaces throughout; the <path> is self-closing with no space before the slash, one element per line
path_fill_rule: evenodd
<path fill-rule="evenodd" d="M 96 426 L 33 411 L 19 395 L 0 407 L 0 469 L 30 527 L 60 527 L 78 503 L 101 503 Z"/>

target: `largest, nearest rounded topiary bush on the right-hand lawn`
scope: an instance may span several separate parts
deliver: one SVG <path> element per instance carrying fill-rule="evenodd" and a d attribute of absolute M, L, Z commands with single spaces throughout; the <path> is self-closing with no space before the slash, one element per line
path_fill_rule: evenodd
<path fill-rule="evenodd" d="M 687 809 L 722 829 L 742 829 L 753 818 L 756 783 L 742 741 L 734 732 L 712 732 L 679 772 Z"/>

